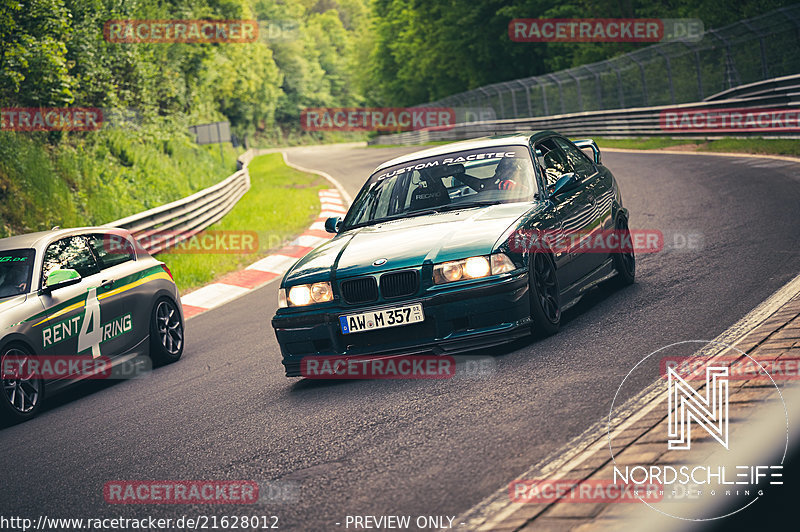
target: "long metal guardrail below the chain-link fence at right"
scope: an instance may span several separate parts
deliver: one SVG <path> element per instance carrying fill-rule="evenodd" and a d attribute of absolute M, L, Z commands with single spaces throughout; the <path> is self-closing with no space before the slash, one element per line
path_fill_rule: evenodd
<path fill-rule="evenodd" d="M 794 79 L 790 79 L 794 78 Z M 709 133 L 695 131 L 669 130 L 662 127 L 661 112 L 665 110 L 692 109 L 758 109 L 800 111 L 800 89 L 797 84 L 800 76 L 787 76 L 776 80 L 760 82 L 759 90 L 750 86 L 748 90 L 755 96 L 742 98 L 714 99 L 680 105 L 661 105 L 633 109 L 611 109 L 584 113 L 569 113 L 532 118 L 511 118 L 484 122 L 456 124 L 448 130 L 419 130 L 391 135 L 379 135 L 370 144 L 421 144 L 430 141 L 462 140 L 484 135 L 499 135 L 517 131 L 553 129 L 564 135 L 601 135 L 608 137 L 668 136 L 685 138 L 737 137 L 780 137 L 800 138 L 800 132 L 787 131 L 748 131 L 736 133 Z M 772 85 L 770 85 L 772 83 Z M 756 84 L 753 84 L 756 85 Z M 795 123 L 800 127 L 800 124 Z"/>

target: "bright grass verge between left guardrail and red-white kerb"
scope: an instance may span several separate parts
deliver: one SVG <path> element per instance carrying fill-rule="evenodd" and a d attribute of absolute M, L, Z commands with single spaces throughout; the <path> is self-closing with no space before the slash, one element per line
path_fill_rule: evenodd
<path fill-rule="evenodd" d="M 319 214 L 319 190 L 328 188 L 321 177 L 286 166 L 280 153 L 250 162 L 250 190 L 236 206 L 207 231 L 254 231 L 252 253 L 162 253 L 157 256 L 172 271 L 181 293 L 237 271 L 282 247 L 302 233 Z M 191 249 L 191 245 L 187 248 Z"/>

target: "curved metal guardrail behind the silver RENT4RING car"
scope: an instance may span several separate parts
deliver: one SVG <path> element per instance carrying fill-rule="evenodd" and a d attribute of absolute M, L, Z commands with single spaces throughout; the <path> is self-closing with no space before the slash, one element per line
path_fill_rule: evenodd
<path fill-rule="evenodd" d="M 248 150 L 237 160 L 241 169 L 214 186 L 191 196 L 105 224 L 130 231 L 150 253 L 172 247 L 211 224 L 233 209 L 250 190 L 247 164 L 253 158 Z"/>

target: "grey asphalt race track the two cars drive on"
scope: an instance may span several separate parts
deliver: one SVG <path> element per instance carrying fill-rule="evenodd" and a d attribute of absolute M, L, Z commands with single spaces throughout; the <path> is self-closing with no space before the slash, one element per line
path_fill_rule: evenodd
<path fill-rule="evenodd" d="M 290 160 L 355 194 L 375 165 L 406 151 L 302 148 Z M 800 165 L 628 153 L 604 162 L 633 228 L 662 230 L 668 248 L 676 234 L 699 234 L 702 249 L 640 256 L 634 286 L 595 290 L 560 334 L 481 353 L 497 363 L 483 379 L 286 379 L 270 284 L 190 320 L 178 364 L 81 385 L 0 431 L 0 515 L 262 514 L 283 530 L 337 530 L 347 515 L 464 512 L 607 415 L 643 356 L 713 338 L 798 272 Z M 138 479 L 274 481 L 297 497 L 257 507 L 104 502 L 104 483 Z"/>

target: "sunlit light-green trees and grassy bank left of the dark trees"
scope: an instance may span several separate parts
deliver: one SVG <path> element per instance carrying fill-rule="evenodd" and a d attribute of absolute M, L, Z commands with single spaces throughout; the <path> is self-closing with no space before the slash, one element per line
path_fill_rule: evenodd
<path fill-rule="evenodd" d="M 220 181 L 233 148 L 221 163 L 218 146 L 189 139 L 192 124 L 321 138 L 299 131 L 300 110 L 362 101 L 352 73 L 367 1 L 0 0 L 0 107 L 135 115 L 94 132 L 0 131 L 0 237 L 106 223 Z M 259 20 L 262 31 L 249 43 L 109 42 L 104 25 L 125 19 Z M 276 22 L 297 30 L 272 39 Z"/>

